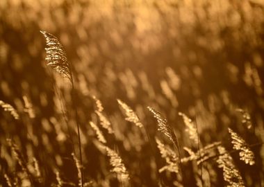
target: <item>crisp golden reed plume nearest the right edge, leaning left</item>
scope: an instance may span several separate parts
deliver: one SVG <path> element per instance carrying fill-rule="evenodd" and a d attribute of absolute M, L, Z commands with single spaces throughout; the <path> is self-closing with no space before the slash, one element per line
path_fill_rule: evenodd
<path fill-rule="evenodd" d="M 231 128 L 229 128 L 229 134 L 231 135 L 231 143 L 233 144 L 233 149 L 240 150 L 240 160 L 245 161 L 245 163 L 249 165 L 254 165 L 254 153 L 249 149 L 249 145 L 245 142 L 245 140 L 242 139 L 242 137 L 238 136 L 236 132 L 233 132 Z"/>

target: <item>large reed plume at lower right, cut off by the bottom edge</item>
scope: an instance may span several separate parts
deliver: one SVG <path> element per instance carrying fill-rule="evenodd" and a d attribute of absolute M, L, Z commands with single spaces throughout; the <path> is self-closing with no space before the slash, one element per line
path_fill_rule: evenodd
<path fill-rule="evenodd" d="M 217 158 L 218 168 L 222 168 L 224 181 L 227 182 L 229 187 L 242 187 L 245 186 L 244 181 L 240 175 L 239 170 L 236 168 L 232 157 L 223 146 L 217 147 L 220 156 Z"/>

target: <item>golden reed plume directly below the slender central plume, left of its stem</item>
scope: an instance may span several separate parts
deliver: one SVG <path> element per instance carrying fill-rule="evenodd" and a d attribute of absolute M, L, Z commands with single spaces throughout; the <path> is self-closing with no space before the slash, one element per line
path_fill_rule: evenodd
<path fill-rule="evenodd" d="M 171 150 L 170 147 L 161 143 L 161 141 L 157 138 L 156 143 L 158 144 L 161 157 L 163 157 L 167 163 L 167 165 L 160 168 L 158 172 L 163 172 L 164 170 L 176 173 L 179 172 L 179 157 L 176 156 L 175 152 Z"/>

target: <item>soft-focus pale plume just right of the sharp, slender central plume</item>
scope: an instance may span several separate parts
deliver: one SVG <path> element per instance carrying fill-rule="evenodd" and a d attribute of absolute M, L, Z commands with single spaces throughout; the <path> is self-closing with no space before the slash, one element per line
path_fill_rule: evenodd
<path fill-rule="evenodd" d="M 192 139 L 192 141 L 194 141 L 197 144 L 198 143 L 198 134 L 197 134 L 197 128 L 195 127 L 195 124 L 185 114 L 179 112 L 179 116 L 181 116 L 183 118 L 183 122 L 187 127 L 185 129 L 185 131 L 188 132 L 188 134 L 190 135 L 190 139 Z"/>

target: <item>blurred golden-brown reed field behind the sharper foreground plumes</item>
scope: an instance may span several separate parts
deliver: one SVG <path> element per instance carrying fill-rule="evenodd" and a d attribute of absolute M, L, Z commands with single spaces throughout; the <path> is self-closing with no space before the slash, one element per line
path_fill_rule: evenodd
<path fill-rule="evenodd" d="M 0 186 L 79 186 L 71 83 L 47 66 L 40 30 L 58 37 L 72 64 L 85 186 L 228 185 L 217 148 L 199 165 L 160 170 L 167 162 L 156 139 L 179 155 L 148 106 L 173 128 L 181 159 L 186 148 L 221 142 L 245 186 L 264 186 L 263 1 L 1 0 L 0 100 L 19 119 L 0 107 Z M 143 127 L 127 120 L 117 99 Z M 113 134 L 101 126 L 99 101 Z M 198 144 L 179 112 L 195 124 Z M 233 150 L 228 128 L 254 152 L 254 165 Z M 105 147 L 129 177 L 120 179 Z"/>

